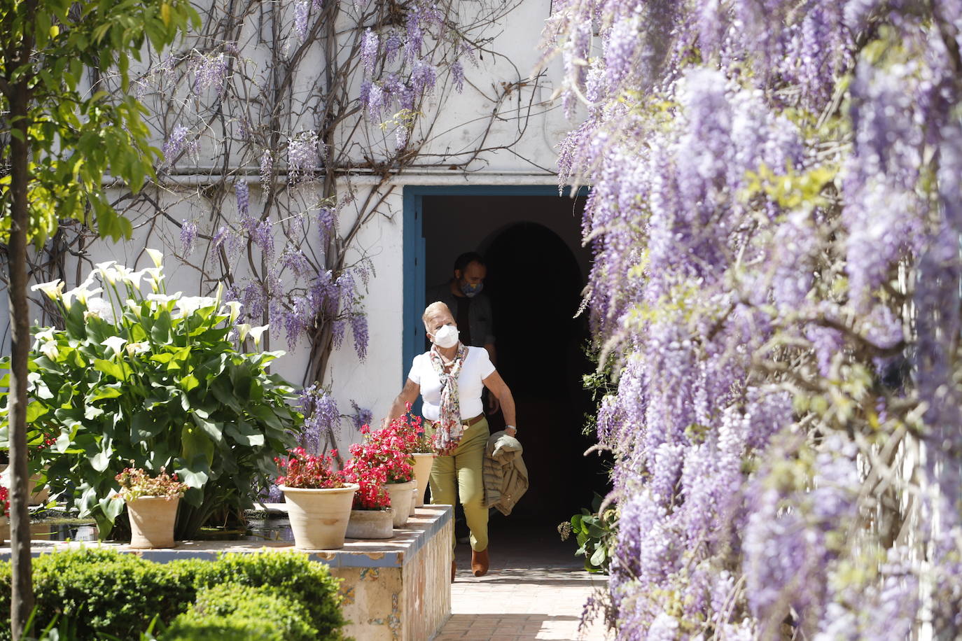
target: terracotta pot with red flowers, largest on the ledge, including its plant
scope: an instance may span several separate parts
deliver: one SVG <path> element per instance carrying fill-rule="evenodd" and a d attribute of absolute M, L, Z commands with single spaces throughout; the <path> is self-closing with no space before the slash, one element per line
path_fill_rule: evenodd
<path fill-rule="evenodd" d="M 344 545 L 358 485 L 345 482 L 342 472 L 334 469 L 335 456 L 336 450 L 314 455 L 294 448 L 287 459 L 277 459 L 282 473 L 277 485 L 288 504 L 294 546 L 300 550 L 335 550 Z"/>

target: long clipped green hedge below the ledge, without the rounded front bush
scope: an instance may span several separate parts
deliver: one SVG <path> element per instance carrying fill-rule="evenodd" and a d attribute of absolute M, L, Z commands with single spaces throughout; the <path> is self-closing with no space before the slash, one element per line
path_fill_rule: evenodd
<path fill-rule="evenodd" d="M 0 563 L 0 618 L 7 621 L 10 573 L 10 563 Z M 162 625 L 170 624 L 195 605 L 198 592 L 209 595 L 205 597 L 209 599 L 217 594 L 210 588 L 229 584 L 236 594 L 257 588 L 263 598 L 284 602 L 291 612 L 303 612 L 297 616 L 302 616 L 312 629 L 311 638 L 335 641 L 343 638 L 341 629 L 346 623 L 341 613 L 339 582 L 330 576 L 326 565 L 297 553 L 221 555 L 216 561 L 153 563 L 137 555 L 99 548 L 64 551 L 34 559 L 38 607 L 35 629 L 43 629 L 59 615 L 62 620 L 71 621 L 78 641 L 103 635 L 135 639 L 155 616 Z M 215 638 L 203 636 L 199 611 L 190 611 L 197 623 L 197 641 Z M 229 621 L 218 623 L 242 628 L 247 610 L 238 611 Z M 10 628 L 0 626 L 0 641 L 10 638 Z M 224 632 L 219 638 L 262 637 Z"/>

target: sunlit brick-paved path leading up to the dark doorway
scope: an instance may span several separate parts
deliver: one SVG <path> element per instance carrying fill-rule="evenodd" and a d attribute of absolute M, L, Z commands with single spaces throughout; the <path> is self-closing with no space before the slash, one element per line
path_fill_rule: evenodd
<path fill-rule="evenodd" d="M 606 577 L 585 572 L 550 528 L 492 535 L 491 572 L 471 576 L 470 549 L 456 551 L 458 576 L 451 585 L 450 620 L 435 641 L 602 641 L 614 639 L 595 622 L 578 632 L 585 601 Z"/>

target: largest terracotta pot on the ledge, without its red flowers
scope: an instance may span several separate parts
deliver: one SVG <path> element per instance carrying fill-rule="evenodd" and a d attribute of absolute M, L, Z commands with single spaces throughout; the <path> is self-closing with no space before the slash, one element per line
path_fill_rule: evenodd
<path fill-rule="evenodd" d="M 281 485 L 299 550 L 335 550 L 344 545 L 357 483 L 344 487 L 309 488 Z"/>

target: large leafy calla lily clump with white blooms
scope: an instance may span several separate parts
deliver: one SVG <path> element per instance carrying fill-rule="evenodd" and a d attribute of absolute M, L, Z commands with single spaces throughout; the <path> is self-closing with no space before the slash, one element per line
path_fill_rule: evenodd
<path fill-rule="evenodd" d="M 31 471 L 94 517 L 101 536 L 124 507 L 113 496 L 125 468 L 166 468 L 187 483 L 176 535 L 190 537 L 215 510 L 252 505 L 300 426 L 291 385 L 266 371 L 282 353 L 243 349 L 266 328 L 235 328 L 240 305 L 219 294 L 168 295 L 154 258 L 139 272 L 103 263 L 66 292 L 40 287 L 64 326 L 35 331 L 28 438 L 55 442 L 38 449 Z"/>

